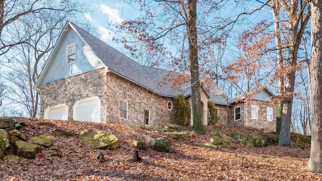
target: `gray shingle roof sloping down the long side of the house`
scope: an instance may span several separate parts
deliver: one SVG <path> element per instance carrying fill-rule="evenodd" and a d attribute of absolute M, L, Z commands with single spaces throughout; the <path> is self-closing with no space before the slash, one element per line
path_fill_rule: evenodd
<path fill-rule="evenodd" d="M 171 82 L 164 86 L 157 84 L 157 82 L 161 81 L 162 78 L 169 73 L 168 70 L 140 65 L 123 53 L 117 51 L 105 42 L 86 32 L 82 28 L 79 28 L 72 23 L 71 25 L 108 67 L 108 71 L 122 76 L 139 86 L 148 88 L 150 91 L 160 96 L 174 98 L 179 94 L 182 94 L 185 97 L 191 95 L 191 89 L 189 88 L 188 84 L 183 86 L 187 88 L 184 88 L 182 92 L 172 89 Z M 217 95 L 216 92 L 211 92 L 210 97 L 210 101 L 214 102 L 215 104 L 227 104 L 226 99 L 224 99 L 224 97 L 221 95 Z"/>

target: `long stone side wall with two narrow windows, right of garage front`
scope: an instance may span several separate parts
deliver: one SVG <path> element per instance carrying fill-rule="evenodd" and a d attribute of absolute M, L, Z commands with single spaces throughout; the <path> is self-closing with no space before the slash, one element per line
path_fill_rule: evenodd
<path fill-rule="evenodd" d="M 167 106 L 168 101 L 173 103 L 173 98 L 160 97 L 112 73 L 107 74 L 107 100 L 107 123 L 146 126 L 143 114 L 147 109 L 150 112 L 150 126 L 154 127 L 169 122 L 174 113 Z M 121 100 L 127 102 L 127 119 L 120 118 Z"/>

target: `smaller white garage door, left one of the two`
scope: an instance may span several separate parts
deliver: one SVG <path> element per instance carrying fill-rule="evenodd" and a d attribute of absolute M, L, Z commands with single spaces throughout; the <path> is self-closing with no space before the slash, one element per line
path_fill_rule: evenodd
<path fill-rule="evenodd" d="M 65 104 L 49 107 L 44 112 L 44 119 L 67 120 L 68 108 Z"/>

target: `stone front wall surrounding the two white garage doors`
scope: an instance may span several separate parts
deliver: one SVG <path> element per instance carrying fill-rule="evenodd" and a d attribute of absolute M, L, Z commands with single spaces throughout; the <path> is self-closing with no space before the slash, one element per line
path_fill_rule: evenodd
<path fill-rule="evenodd" d="M 68 120 L 73 120 L 73 105 L 78 100 L 97 96 L 101 100 L 101 122 L 106 121 L 106 76 L 105 68 L 92 70 L 79 75 L 41 85 L 41 115 L 48 107 L 66 104 Z"/>

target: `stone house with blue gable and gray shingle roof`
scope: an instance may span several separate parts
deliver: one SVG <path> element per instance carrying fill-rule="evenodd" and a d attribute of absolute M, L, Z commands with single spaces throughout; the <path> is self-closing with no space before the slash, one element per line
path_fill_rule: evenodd
<path fill-rule="evenodd" d="M 170 84 L 157 84 L 168 72 L 140 65 L 67 22 L 34 86 L 41 96 L 40 116 L 135 127 L 167 123 L 179 94 L 192 105 L 190 88 L 178 91 Z M 202 89 L 203 123 L 207 125 L 207 103 L 212 101 L 219 124 L 275 130 L 276 108 L 269 105 L 272 95 L 264 89 L 251 100 L 235 103 L 215 86 L 209 92 Z"/>

